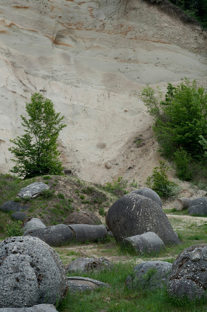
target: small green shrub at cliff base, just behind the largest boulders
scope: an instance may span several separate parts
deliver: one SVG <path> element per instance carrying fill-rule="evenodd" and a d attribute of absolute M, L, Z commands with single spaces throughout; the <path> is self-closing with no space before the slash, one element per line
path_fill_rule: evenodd
<path fill-rule="evenodd" d="M 167 173 L 170 168 L 166 161 L 159 161 L 160 166 L 154 167 L 153 174 L 147 177 L 146 184 L 158 195 L 163 197 L 174 196 L 178 192 L 178 185 L 169 181 Z"/>

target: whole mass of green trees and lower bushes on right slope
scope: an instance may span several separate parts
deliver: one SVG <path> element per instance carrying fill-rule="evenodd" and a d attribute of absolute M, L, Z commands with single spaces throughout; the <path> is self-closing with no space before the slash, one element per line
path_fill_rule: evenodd
<path fill-rule="evenodd" d="M 165 100 L 147 85 L 141 98 L 153 117 L 153 131 L 160 144 L 161 155 L 172 159 L 177 176 L 183 180 L 203 179 L 207 165 L 207 91 L 185 80 L 173 87 L 168 83 Z"/>

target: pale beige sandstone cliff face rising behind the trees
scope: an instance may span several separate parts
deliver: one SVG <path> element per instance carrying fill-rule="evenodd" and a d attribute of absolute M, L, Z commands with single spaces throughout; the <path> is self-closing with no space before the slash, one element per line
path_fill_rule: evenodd
<path fill-rule="evenodd" d="M 68 124 L 59 136 L 66 168 L 92 182 L 143 185 L 159 155 L 142 86 L 206 84 L 206 71 L 205 33 L 145 1 L 1 0 L 0 172 L 13 165 L 9 139 L 23 133 L 25 101 L 41 92 Z"/>

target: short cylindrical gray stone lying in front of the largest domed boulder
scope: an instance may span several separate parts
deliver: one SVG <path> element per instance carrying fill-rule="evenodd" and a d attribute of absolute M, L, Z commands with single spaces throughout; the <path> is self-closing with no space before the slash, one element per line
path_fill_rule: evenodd
<path fill-rule="evenodd" d="M 122 246 L 137 254 L 159 253 L 165 249 L 162 239 L 153 232 L 127 237 L 122 241 Z"/>

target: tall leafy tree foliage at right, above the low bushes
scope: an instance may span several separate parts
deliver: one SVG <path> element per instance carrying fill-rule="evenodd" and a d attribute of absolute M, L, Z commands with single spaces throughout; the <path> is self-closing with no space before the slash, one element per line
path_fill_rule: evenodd
<path fill-rule="evenodd" d="M 203 155 L 200 137 L 207 139 L 207 92 L 186 78 L 180 85 L 168 84 L 165 100 L 158 100 L 147 85 L 141 97 L 154 117 L 153 130 L 164 156 L 172 157 L 182 147 L 192 158 Z M 160 98 L 160 94 L 158 95 Z M 156 99 L 156 101 L 155 101 Z"/>

